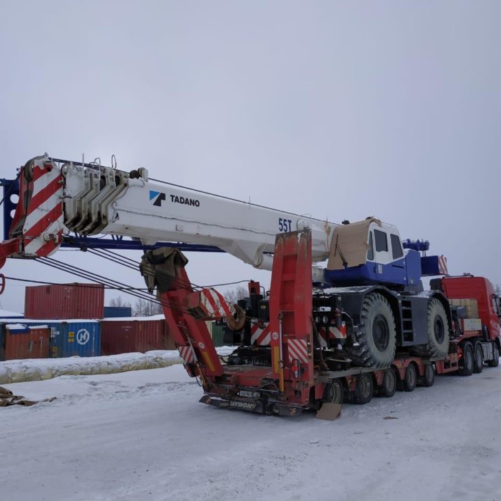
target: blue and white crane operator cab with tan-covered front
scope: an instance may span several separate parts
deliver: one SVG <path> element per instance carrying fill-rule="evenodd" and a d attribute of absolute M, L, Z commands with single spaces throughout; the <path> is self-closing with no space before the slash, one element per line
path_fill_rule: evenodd
<path fill-rule="evenodd" d="M 406 287 L 419 285 L 421 276 L 419 251 L 402 246 L 395 226 L 367 218 L 335 228 L 324 271 L 327 283 Z"/>

